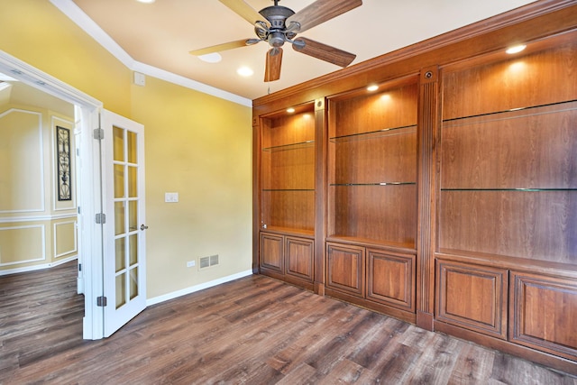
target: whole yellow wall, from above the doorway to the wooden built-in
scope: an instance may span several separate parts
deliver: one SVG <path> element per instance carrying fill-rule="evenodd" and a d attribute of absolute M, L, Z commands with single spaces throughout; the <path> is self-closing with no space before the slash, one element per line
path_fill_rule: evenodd
<path fill-rule="evenodd" d="M 150 77 L 133 86 L 48 0 L 0 0 L 0 25 L 0 50 L 144 125 L 148 298 L 251 269 L 251 108 Z M 216 253 L 219 266 L 186 267 Z"/>

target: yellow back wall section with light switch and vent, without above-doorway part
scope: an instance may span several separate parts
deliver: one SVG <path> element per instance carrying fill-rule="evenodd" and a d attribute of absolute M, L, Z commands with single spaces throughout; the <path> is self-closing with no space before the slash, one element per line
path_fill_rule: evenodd
<path fill-rule="evenodd" d="M 250 108 L 147 78 L 133 118 L 145 125 L 149 298 L 250 270 Z M 214 254 L 218 267 L 186 267 Z"/>

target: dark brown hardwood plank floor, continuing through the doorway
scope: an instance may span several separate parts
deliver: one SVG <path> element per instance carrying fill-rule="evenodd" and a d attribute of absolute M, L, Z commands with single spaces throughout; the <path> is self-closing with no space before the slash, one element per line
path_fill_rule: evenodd
<path fill-rule="evenodd" d="M 75 262 L 0 277 L 0 383 L 577 384 L 263 276 L 148 307 L 82 340 Z"/>

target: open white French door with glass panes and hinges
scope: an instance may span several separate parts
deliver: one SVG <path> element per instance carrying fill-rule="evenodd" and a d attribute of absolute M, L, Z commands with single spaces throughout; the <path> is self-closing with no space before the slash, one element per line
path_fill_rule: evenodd
<path fill-rule="evenodd" d="M 104 336 L 146 307 L 144 127 L 102 114 Z"/>

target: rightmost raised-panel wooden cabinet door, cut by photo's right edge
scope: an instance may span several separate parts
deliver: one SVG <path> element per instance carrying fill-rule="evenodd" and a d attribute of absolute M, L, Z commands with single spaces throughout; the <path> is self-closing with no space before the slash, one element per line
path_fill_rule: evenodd
<path fill-rule="evenodd" d="M 577 360 L 577 280 L 511 271 L 510 340 Z"/>

